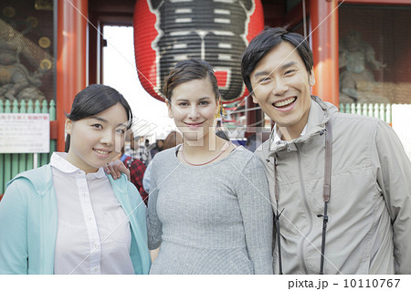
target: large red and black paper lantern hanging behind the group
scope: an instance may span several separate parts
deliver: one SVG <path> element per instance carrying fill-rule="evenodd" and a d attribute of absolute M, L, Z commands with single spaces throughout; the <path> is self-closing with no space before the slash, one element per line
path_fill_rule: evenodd
<path fill-rule="evenodd" d="M 142 87 L 154 98 L 174 65 L 205 59 L 216 71 L 222 101 L 247 96 L 241 56 L 264 28 L 260 0 L 137 0 L 134 47 Z"/>

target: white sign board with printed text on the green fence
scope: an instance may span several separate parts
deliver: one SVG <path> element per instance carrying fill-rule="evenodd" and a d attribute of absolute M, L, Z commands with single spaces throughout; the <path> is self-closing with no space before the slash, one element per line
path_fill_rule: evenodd
<path fill-rule="evenodd" d="M 0 113 L 0 152 L 50 151 L 48 113 Z"/>

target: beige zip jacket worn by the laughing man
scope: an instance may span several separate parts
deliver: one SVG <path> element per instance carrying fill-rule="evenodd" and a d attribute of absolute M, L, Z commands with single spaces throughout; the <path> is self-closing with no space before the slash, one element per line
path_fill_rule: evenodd
<path fill-rule="evenodd" d="M 284 274 L 318 274 L 324 203 L 325 123 L 332 116 L 332 190 L 324 274 L 411 274 L 411 163 L 382 120 L 343 114 L 311 97 L 307 131 L 256 151 L 280 215 Z M 277 160 L 279 204 L 274 195 Z M 279 273 L 277 244 L 274 270 Z"/>

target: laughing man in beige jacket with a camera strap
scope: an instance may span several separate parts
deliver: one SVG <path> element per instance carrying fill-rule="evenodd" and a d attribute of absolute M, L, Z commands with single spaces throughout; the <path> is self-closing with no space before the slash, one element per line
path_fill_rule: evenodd
<path fill-rule="evenodd" d="M 241 72 L 275 122 L 256 154 L 276 213 L 276 274 L 411 274 L 411 164 L 394 130 L 311 96 L 299 34 L 264 30 Z"/>

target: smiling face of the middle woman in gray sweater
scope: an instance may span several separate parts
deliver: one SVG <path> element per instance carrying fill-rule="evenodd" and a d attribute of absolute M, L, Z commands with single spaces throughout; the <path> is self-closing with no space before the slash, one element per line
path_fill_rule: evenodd
<path fill-rule="evenodd" d="M 208 78 L 178 85 L 167 101 L 169 116 L 174 119 L 184 140 L 203 140 L 215 126 L 218 106 Z"/>

